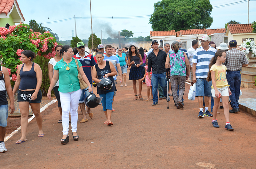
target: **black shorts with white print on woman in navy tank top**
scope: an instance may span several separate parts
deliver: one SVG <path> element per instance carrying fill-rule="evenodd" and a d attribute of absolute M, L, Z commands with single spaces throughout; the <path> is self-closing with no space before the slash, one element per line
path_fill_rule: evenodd
<path fill-rule="evenodd" d="M 18 96 L 17 96 L 17 102 L 20 101 L 28 101 L 29 103 L 41 103 L 42 101 L 42 92 L 41 89 L 39 89 L 37 93 L 37 97 L 35 100 L 31 100 L 31 96 L 35 91 L 18 91 Z"/>

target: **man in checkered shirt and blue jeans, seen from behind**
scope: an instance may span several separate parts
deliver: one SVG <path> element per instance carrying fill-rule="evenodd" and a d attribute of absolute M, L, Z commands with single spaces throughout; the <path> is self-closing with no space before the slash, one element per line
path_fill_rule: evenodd
<path fill-rule="evenodd" d="M 248 66 L 249 62 L 244 54 L 244 52 L 237 50 L 236 40 L 231 40 L 229 42 L 230 50 L 227 52 L 226 61 L 224 65 L 227 67 L 227 80 L 231 95 L 229 96 L 231 100 L 232 110 L 229 113 L 239 112 L 239 94 L 241 85 L 241 70 L 242 67 Z"/>

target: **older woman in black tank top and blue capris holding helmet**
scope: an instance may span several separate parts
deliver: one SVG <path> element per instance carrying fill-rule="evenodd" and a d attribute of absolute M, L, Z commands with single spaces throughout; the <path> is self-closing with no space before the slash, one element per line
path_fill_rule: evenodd
<path fill-rule="evenodd" d="M 109 91 L 103 91 L 100 90 L 99 87 L 97 87 L 97 94 L 102 97 L 101 103 L 103 111 L 107 118 L 107 121 L 105 121 L 104 124 L 113 125 L 113 122 L 111 122 L 111 113 L 113 96 L 114 92 L 116 91 L 116 86 L 113 78 L 113 76 L 117 74 L 116 68 L 114 67 L 113 63 L 109 61 L 103 61 L 104 55 L 102 52 L 97 52 L 95 56 L 97 63 L 92 69 L 92 80 L 96 83 L 99 83 L 103 77 L 107 77 L 113 83 L 113 87 Z"/>

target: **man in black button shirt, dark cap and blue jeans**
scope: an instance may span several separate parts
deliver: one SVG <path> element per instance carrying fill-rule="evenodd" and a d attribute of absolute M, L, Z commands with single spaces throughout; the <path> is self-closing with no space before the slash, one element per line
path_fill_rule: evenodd
<path fill-rule="evenodd" d="M 152 92 L 153 92 L 153 104 L 156 106 L 158 104 L 157 88 L 158 83 L 164 90 L 164 96 L 170 100 L 167 96 L 167 81 L 166 81 L 166 71 L 165 71 L 165 61 L 166 52 L 159 50 L 157 40 L 152 41 L 153 51 L 148 55 L 148 78 L 151 80 Z M 150 71 L 152 68 L 152 77 Z"/>

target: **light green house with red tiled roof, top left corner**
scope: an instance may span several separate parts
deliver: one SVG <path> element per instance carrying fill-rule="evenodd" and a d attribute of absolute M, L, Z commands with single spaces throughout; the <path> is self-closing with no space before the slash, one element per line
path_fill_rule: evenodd
<path fill-rule="evenodd" d="M 0 27 L 9 28 L 15 23 L 23 23 L 24 21 L 25 18 L 17 0 L 0 0 Z"/>

